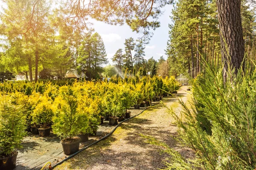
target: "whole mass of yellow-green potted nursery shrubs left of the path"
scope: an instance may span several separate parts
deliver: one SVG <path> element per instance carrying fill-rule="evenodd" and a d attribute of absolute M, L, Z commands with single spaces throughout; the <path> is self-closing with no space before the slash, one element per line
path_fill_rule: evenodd
<path fill-rule="evenodd" d="M 0 84 L 0 169 L 16 166 L 28 133 L 59 136 L 64 154 L 95 134 L 103 119 L 110 125 L 129 118 L 127 109 L 150 105 L 180 88 L 174 77 L 113 78 L 108 81 L 4 82 Z"/>

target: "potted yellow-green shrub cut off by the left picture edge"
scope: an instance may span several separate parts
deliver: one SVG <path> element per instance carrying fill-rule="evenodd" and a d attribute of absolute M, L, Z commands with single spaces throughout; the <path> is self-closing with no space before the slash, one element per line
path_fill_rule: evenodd
<path fill-rule="evenodd" d="M 26 117 L 22 106 L 15 105 L 11 96 L 0 96 L 0 170 L 13 170 L 16 167 L 21 140 L 26 135 Z"/>

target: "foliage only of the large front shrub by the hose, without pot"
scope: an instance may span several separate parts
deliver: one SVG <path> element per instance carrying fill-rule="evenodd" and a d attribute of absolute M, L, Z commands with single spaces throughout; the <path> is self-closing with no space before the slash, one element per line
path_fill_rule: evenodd
<path fill-rule="evenodd" d="M 55 98 L 55 115 L 52 118 L 52 132 L 57 136 L 70 137 L 86 133 L 88 128 L 88 109 L 79 94 L 73 93 L 70 86 L 59 88 Z"/>

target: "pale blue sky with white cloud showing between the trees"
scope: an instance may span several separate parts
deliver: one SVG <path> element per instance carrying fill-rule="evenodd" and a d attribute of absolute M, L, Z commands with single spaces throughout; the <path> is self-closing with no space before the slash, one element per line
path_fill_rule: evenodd
<path fill-rule="evenodd" d="M 154 35 L 151 37 L 149 44 L 145 45 L 145 59 L 153 57 L 157 60 L 161 56 L 165 59 L 167 58 L 164 50 L 166 49 L 167 40 L 169 39 L 169 24 L 172 23 L 169 16 L 171 15 L 172 8 L 173 5 L 166 5 L 163 8 L 164 14 L 159 18 L 161 26 L 154 31 Z M 122 48 L 124 51 L 125 39 L 133 37 L 134 40 L 136 40 L 137 37 L 140 37 L 136 32 L 132 32 L 131 28 L 127 25 L 112 26 L 96 20 L 92 22 L 94 24 L 92 28 L 94 28 L 95 32 L 98 32 L 103 39 L 109 61 L 108 64 L 111 65 L 113 64 L 111 58 L 116 51 L 119 48 Z M 134 55 L 134 52 L 132 54 Z"/>

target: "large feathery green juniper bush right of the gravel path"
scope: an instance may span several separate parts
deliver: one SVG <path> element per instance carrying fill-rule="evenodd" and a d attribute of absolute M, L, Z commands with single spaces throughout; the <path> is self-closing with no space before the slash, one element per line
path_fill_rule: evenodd
<path fill-rule="evenodd" d="M 172 113 L 180 127 L 179 141 L 195 151 L 195 158 L 185 159 L 166 147 L 172 155 L 167 169 L 254 170 L 255 65 L 247 65 L 237 76 L 229 71 L 225 84 L 222 69 L 215 71 L 209 65 L 205 69 L 191 81 L 192 108 L 180 101 L 183 119 Z"/>

